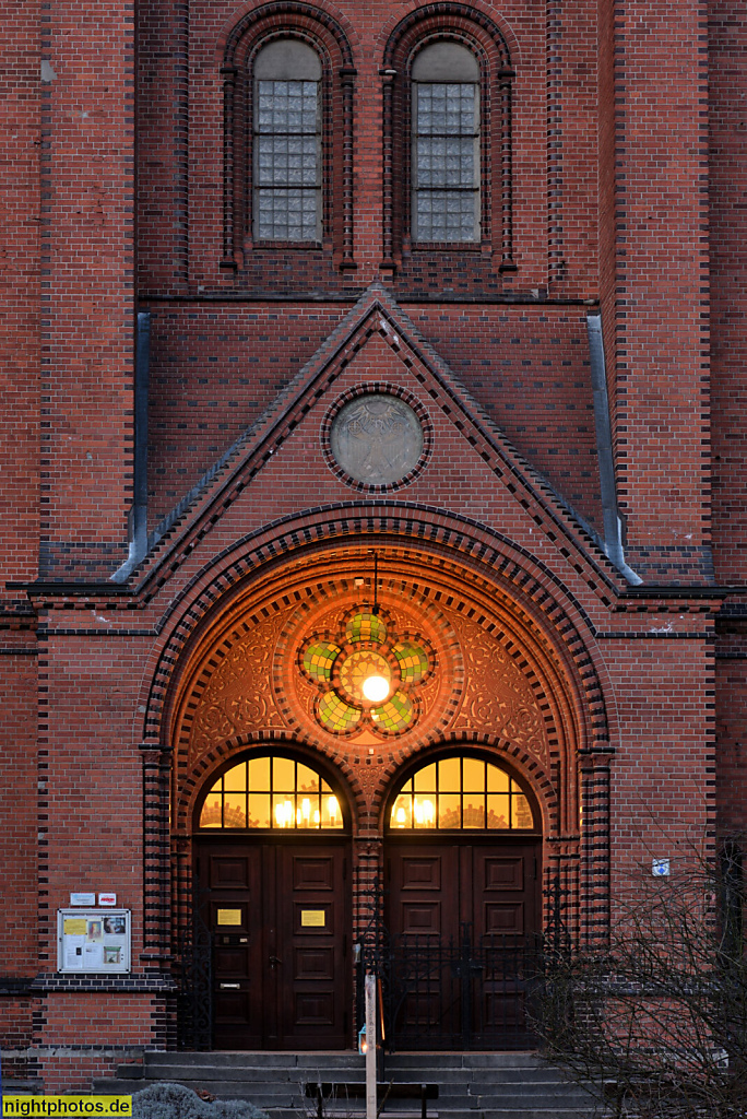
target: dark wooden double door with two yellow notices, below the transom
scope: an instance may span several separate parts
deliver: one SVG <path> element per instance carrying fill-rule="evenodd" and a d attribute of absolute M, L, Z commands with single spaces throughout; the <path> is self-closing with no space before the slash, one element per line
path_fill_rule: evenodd
<path fill-rule="evenodd" d="M 205 839 L 215 1049 L 350 1044 L 349 850 L 344 841 Z"/>

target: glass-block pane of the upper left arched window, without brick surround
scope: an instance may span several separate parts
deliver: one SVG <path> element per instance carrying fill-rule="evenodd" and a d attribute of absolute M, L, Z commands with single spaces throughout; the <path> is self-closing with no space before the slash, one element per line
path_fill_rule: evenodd
<path fill-rule="evenodd" d="M 319 55 L 300 39 L 275 39 L 254 60 L 254 239 L 322 237 Z"/>

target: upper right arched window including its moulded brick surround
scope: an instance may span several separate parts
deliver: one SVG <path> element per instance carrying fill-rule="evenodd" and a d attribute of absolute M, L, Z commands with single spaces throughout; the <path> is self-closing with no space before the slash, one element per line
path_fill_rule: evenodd
<path fill-rule="evenodd" d="M 429 266 L 457 250 L 467 284 L 514 271 L 516 73 L 499 25 L 433 0 L 393 29 L 379 74 L 381 267 L 419 286 Z"/>

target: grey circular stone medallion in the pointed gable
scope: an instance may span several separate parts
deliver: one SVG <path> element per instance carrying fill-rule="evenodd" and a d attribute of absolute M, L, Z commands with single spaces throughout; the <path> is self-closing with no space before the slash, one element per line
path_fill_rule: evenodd
<path fill-rule="evenodd" d="M 367 486 L 390 486 L 414 470 L 423 453 L 423 427 L 396 396 L 369 393 L 340 408 L 330 449 L 344 472 Z"/>

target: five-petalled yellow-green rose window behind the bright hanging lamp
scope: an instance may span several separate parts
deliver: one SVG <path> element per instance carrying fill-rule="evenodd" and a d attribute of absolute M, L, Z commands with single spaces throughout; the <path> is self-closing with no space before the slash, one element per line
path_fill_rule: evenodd
<path fill-rule="evenodd" d="M 380 614 L 361 610 L 339 634 L 306 641 L 301 668 L 319 689 L 314 709 L 325 731 L 401 734 L 417 718 L 432 656 L 423 638 L 400 640 Z"/>

